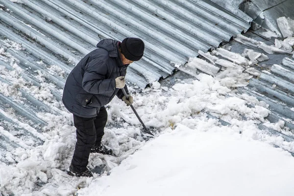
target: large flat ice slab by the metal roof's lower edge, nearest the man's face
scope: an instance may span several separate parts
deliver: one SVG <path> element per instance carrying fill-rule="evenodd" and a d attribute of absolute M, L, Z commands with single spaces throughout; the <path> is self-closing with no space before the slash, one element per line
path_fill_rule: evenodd
<path fill-rule="evenodd" d="M 204 73 L 209 75 L 216 75 L 220 68 L 200 59 L 200 58 L 190 58 L 188 63 L 186 64 L 187 68 L 196 68 L 201 70 Z"/>

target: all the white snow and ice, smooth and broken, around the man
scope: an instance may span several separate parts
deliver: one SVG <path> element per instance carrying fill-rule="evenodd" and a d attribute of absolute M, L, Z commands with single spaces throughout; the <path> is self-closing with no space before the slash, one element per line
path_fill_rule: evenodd
<path fill-rule="evenodd" d="M 232 3 L 227 6 L 233 6 Z M 284 18 L 279 19 L 286 34 L 289 26 L 293 29 L 293 21 L 287 21 L 288 25 Z M 270 31 L 264 36 L 269 35 Z M 40 86 L 26 81 L 19 60 L 0 48 L 0 60 L 14 69 L 0 66 L 1 77 L 12 83 L 0 82 L 1 94 L 25 104 L 18 90 L 22 89 L 53 111 L 39 111 L 37 117 L 48 125 L 38 128 L 30 122 L 20 122 L 15 111 L 0 107 L 2 115 L 44 141 L 38 146 L 32 139 L 16 139 L 0 126 L 0 135 L 22 146 L 5 154 L 9 166 L 0 163 L 0 196 L 69 196 L 77 191 L 77 186 L 82 187 L 79 196 L 292 196 L 294 159 L 284 149 L 294 151 L 294 143 L 258 128 L 262 123 L 285 132 L 286 120 L 269 123 L 265 119 L 270 114 L 269 105 L 234 88 L 246 86 L 253 75 L 260 75 L 251 65 L 268 60 L 267 55 L 252 47 L 267 53 L 289 53 L 294 38 L 276 39 L 272 46 L 243 35 L 238 35 L 236 41 L 250 49 L 242 55 L 221 48 L 206 53 L 198 51 L 210 63 L 191 57 L 186 70 L 176 64 L 179 70 L 195 78 L 177 79 L 170 86 L 155 81 L 140 94 L 135 92 L 138 87 L 129 88 L 143 122 L 158 129 L 154 139 L 145 141 L 133 111 L 114 98 L 106 107 L 108 124 L 102 142 L 113 149 L 115 156 L 91 154 L 88 167 L 107 168 L 93 178 L 66 174 L 76 141 L 75 128 L 72 114 L 52 94 L 56 86 L 46 83 L 46 73 L 42 71 L 35 73 Z M 9 40 L 5 43 L 5 47 L 24 50 L 21 44 Z M 37 63 L 45 66 L 43 61 Z M 283 63 L 292 66 L 291 59 Z M 273 67 L 283 71 L 279 65 Z M 47 68 L 53 75 L 66 77 L 58 65 Z M 229 125 L 223 126 L 210 116 Z"/>

